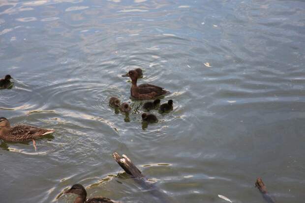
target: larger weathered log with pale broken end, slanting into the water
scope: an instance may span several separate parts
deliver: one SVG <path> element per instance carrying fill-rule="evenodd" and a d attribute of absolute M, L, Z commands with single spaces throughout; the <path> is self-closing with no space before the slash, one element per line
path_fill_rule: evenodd
<path fill-rule="evenodd" d="M 112 156 L 126 172 L 126 174 L 131 175 L 137 184 L 139 184 L 143 189 L 151 193 L 153 195 L 153 198 L 157 202 L 174 203 L 174 201 L 169 198 L 163 191 L 161 191 L 154 184 L 152 184 L 126 155 L 123 154 L 121 157 L 117 152 L 115 152 L 112 154 Z"/>

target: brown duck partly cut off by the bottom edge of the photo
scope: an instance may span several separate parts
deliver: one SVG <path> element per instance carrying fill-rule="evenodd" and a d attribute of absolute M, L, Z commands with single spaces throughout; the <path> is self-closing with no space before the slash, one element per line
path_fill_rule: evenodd
<path fill-rule="evenodd" d="M 81 184 L 74 184 L 69 190 L 64 192 L 64 194 L 67 193 L 78 195 L 78 197 L 74 200 L 74 203 L 119 203 L 104 197 L 94 197 L 86 200 L 87 192 L 84 186 Z"/>

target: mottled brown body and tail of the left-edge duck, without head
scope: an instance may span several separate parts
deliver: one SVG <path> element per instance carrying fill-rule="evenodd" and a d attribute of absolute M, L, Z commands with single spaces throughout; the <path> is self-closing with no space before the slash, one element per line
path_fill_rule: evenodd
<path fill-rule="evenodd" d="M 22 142 L 40 138 L 53 132 L 54 130 L 52 129 L 37 128 L 30 125 L 17 125 L 6 134 L 6 138 L 8 141 Z"/>

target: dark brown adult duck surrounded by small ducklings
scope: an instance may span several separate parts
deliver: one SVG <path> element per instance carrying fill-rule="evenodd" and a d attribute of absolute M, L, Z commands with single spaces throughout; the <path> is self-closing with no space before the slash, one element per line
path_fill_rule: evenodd
<path fill-rule="evenodd" d="M 128 76 L 131 78 L 130 94 L 136 99 L 152 99 L 157 96 L 168 93 L 163 87 L 158 87 L 150 84 L 142 84 L 137 86 L 138 73 L 135 70 L 128 72 Z"/>

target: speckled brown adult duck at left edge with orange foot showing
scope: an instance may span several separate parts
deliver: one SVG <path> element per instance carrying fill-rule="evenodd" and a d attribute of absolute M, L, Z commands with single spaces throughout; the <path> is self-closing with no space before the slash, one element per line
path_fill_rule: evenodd
<path fill-rule="evenodd" d="M 53 129 L 37 128 L 30 125 L 10 126 L 5 117 L 0 117 L 0 138 L 10 142 L 23 142 L 32 140 L 36 150 L 35 140 L 47 134 L 54 133 Z"/>

